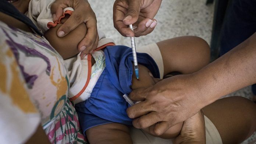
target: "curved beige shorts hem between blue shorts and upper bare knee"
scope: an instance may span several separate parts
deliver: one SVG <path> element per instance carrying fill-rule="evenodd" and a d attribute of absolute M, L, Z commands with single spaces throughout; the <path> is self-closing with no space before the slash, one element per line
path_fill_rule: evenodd
<path fill-rule="evenodd" d="M 161 55 L 161 52 L 159 50 L 159 47 L 156 43 L 152 43 L 146 46 L 136 47 L 136 51 L 138 53 L 147 53 L 149 54 L 154 61 L 156 62 L 159 72 L 160 72 L 160 79 L 163 79 L 164 76 L 164 62 Z"/>

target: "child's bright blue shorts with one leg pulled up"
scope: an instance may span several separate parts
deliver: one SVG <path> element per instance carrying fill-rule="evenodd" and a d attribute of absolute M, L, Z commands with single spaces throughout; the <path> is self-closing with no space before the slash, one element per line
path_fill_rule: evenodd
<path fill-rule="evenodd" d="M 90 98 L 75 105 L 83 134 L 91 127 L 106 123 L 132 125 L 132 119 L 126 113 L 129 105 L 122 97 L 132 91 L 132 49 L 126 46 L 107 46 L 104 53 L 106 68 Z M 152 57 L 146 53 L 137 53 L 137 59 L 155 78 L 160 78 L 159 69 Z"/>

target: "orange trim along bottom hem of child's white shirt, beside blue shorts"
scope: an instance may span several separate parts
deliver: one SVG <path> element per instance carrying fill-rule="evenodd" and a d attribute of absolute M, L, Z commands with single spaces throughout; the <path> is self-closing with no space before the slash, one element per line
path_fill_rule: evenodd
<path fill-rule="evenodd" d="M 105 48 L 106 46 L 115 46 L 115 44 L 114 43 L 107 43 L 107 44 L 104 44 L 103 46 L 100 46 L 100 47 L 96 48 L 94 51 L 101 50 L 102 48 Z M 88 75 L 87 75 L 87 80 L 86 80 L 85 86 L 83 86 L 82 90 L 79 91 L 79 93 L 77 95 L 75 95 L 74 97 L 69 98 L 70 101 L 74 101 L 79 96 L 81 96 L 81 94 L 85 91 L 86 87 L 88 86 L 88 84 L 90 82 L 90 76 L 92 74 L 92 54 L 87 55 L 87 60 L 88 60 Z"/>

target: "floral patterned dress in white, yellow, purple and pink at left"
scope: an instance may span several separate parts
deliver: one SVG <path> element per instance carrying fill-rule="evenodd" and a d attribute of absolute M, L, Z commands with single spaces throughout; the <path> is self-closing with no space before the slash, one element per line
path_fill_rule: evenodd
<path fill-rule="evenodd" d="M 87 143 L 64 61 L 49 42 L 0 21 L 0 48 L 1 143 L 24 143 L 39 123 L 51 143 Z"/>

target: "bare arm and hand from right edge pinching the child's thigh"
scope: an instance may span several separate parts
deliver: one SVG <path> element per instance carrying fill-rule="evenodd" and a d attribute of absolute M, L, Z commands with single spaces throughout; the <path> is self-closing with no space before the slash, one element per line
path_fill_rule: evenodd
<path fill-rule="evenodd" d="M 154 115 L 135 119 L 133 125 L 142 128 L 159 122 L 166 126 L 155 127 L 155 130 L 164 133 L 221 96 L 256 83 L 255 62 L 256 33 L 196 73 L 173 76 L 154 86 L 132 91 L 129 95 L 132 100 L 145 102 L 129 107 L 127 114 L 138 118 L 156 111 Z"/>

